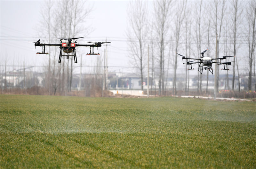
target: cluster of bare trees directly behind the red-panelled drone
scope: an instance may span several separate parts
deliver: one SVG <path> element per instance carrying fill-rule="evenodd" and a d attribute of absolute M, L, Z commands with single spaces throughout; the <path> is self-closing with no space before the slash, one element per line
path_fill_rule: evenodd
<path fill-rule="evenodd" d="M 58 3 L 58 5 L 62 6 L 64 11 L 56 10 L 57 12 L 53 15 L 52 8 L 58 8 L 56 3 L 51 3 L 51 1 L 47 1 L 47 5 L 44 7 L 44 15 L 42 26 L 44 29 L 42 30 L 47 41 L 51 42 L 51 39 L 57 38 L 69 38 L 75 37 L 79 32 L 84 33 L 84 31 L 88 31 L 86 27 L 83 27 L 85 19 L 89 14 L 89 9 L 84 10 L 84 3 L 81 1 L 75 0 L 64 0 Z M 72 6 L 72 8 L 69 8 Z M 78 15 L 79 13 L 79 15 Z M 42 25 L 41 24 L 41 25 Z M 55 40 L 56 43 L 56 40 Z M 50 48 L 49 48 L 50 50 Z M 48 88 L 50 94 L 50 88 L 52 93 L 56 94 L 57 89 L 59 88 L 59 93 L 63 94 L 64 89 L 67 91 L 71 91 L 72 85 L 72 73 L 73 73 L 73 58 L 71 57 L 71 68 L 69 65 L 69 60 L 62 60 L 62 64 L 58 64 L 58 72 L 55 73 L 55 56 L 56 56 L 57 49 L 55 48 L 54 51 L 54 63 L 53 66 L 51 65 L 51 56 L 49 54 L 49 64 L 48 64 L 48 74 L 46 76 L 47 83 L 46 86 Z M 49 51 L 49 53 L 51 53 Z M 65 63 L 66 62 L 66 63 Z M 66 70 L 65 70 L 65 65 Z M 50 73 L 51 72 L 51 73 Z M 51 77 L 52 76 L 52 77 Z M 50 78 L 51 77 L 51 78 Z M 57 82 L 59 81 L 59 82 Z M 65 83 L 66 81 L 66 83 Z"/>

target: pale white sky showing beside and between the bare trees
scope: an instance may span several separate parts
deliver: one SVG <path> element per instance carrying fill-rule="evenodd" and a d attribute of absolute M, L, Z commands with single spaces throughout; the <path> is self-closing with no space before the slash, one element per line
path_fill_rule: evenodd
<path fill-rule="evenodd" d="M 58 1 L 54 2 L 56 3 Z M 151 6 L 148 8 L 151 13 L 153 12 L 152 2 L 153 1 L 150 2 Z M 23 66 L 23 62 L 25 62 L 25 65 L 37 66 L 43 66 L 48 63 L 48 55 L 36 55 L 36 52 L 41 52 L 42 48 L 36 47 L 35 49 L 34 44 L 29 42 L 36 41 L 38 39 L 44 40 L 36 31 L 36 28 L 38 28 L 38 25 L 40 24 L 40 19 L 42 19 L 41 7 L 44 3 L 45 1 L 36 0 L 0 0 L 0 65 L 4 65 L 5 60 L 7 60 L 7 65 L 20 66 Z M 77 43 L 85 44 L 84 41 L 100 42 L 105 41 L 106 38 L 108 38 L 108 41 L 111 41 L 110 46 L 108 46 L 109 72 L 119 70 L 121 72 L 132 72 L 131 69 L 127 68 L 133 65 L 129 61 L 129 48 L 127 47 L 127 36 L 125 33 L 127 30 L 127 5 L 129 4 L 129 1 L 87 1 L 86 4 L 88 4 L 86 6 L 87 8 L 93 6 L 88 23 L 94 31 L 88 35 L 79 35 L 79 37 L 84 36 L 85 38 L 78 39 Z M 43 43 L 47 42 L 44 41 Z M 104 49 L 104 45 L 99 48 L 98 52 L 101 57 L 104 56 Z M 47 48 L 46 52 L 48 52 Z M 95 51 L 95 53 L 96 52 L 97 51 Z M 243 59 L 242 57 L 244 56 L 242 55 L 244 52 L 241 48 L 239 49 L 239 52 L 242 52 L 240 53 L 240 58 Z M 81 56 L 83 56 L 83 66 L 94 66 L 96 64 L 96 56 L 86 56 L 86 53 L 89 53 L 89 48 L 76 48 L 78 63 L 76 63 L 75 66 L 80 66 Z M 185 54 L 183 49 L 181 49 L 179 53 L 183 55 Z M 214 52 L 212 51 L 212 53 Z M 57 54 L 57 59 L 58 55 L 59 54 Z M 65 58 L 62 58 L 62 61 L 64 59 Z M 239 60 L 239 58 L 237 59 Z M 178 69 L 184 68 L 181 61 L 182 60 L 179 58 L 178 63 L 180 64 L 178 64 Z M 56 64 L 59 64 L 57 60 Z M 197 65 L 194 65 L 193 67 L 195 70 L 191 72 L 197 74 Z M 244 65 L 241 67 L 246 68 Z M 15 68 L 19 69 L 20 67 Z M 3 71 L 3 69 L 4 67 L 0 67 L 0 70 Z M 84 69 L 83 72 L 88 71 L 87 69 Z M 89 67 L 89 69 L 92 71 L 93 68 Z M 12 67 L 7 67 L 7 70 L 12 70 Z M 36 68 L 33 68 L 33 70 L 38 71 Z M 76 68 L 75 73 L 79 72 L 79 70 L 79 68 Z M 220 71 L 220 73 L 222 72 Z M 225 74 L 224 71 L 223 74 Z M 232 70 L 229 74 L 232 74 Z"/>

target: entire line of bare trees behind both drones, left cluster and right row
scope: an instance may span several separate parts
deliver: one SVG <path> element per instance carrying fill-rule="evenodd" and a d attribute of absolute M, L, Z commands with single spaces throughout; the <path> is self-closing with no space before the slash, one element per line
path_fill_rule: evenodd
<path fill-rule="evenodd" d="M 85 25 L 90 14 L 90 8 L 84 8 L 85 5 L 88 5 L 86 1 L 65 0 L 58 1 L 58 3 L 51 0 L 47 1 L 42 11 L 38 33 L 46 41 L 52 43 L 59 43 L 57 38 L 70 38 L 89 33 L 89 26 L 86 27 Z M 60 6 L 63 10 L 58 10 Z M 150 3 L 136 0 L 129 3 L 127 14 L 126 35 L 130 51 L 128 54 L 131 56 L 130 61 L 136 67 L 134 72 L 140 75 L 141 90 L 143 90 L 142 81 L 145 78 L 148 54 L 151 68 L 150 91 L 156 91 L 158 88 L 158 94 L 165 95 L 167 79 L 172 77 L 172 93 L 176 95 L 177 68 L 180 61 L 176 53 L 182 53 L 188 57 L 198 56 L 199 58 L 200 55 L 197 54 L 204 51 L 206 47 L 208 49 L 207 54 L 211 57 L 217 57 L 220 53 L 221 55 L 236 55 L 238 50 L 243 50 L 243 56 L 236 56 L 232 60 L 234 61 L 231 65 L 233 71 L 227 72 L 225 85 L 228 89 L 234 90 L 237 75 L 240 91 L 238 61 L 244 60 L 249 74 L 248 89 L 256 88 L 255 1 L 156 0 Z M 244 42 L 246 47 L 243 45 Z M 241 49 L 242 45 L 243 49 Z M 47 68 L 44 70 L 46 72 L 44 81 L 48 94 L 59 93 L 63 95 L 70 92 L 74 72 L 73 58 L 63 59 L 61 64 L 56 64 L 59 50 L 57 47 L 48 46 L 48 51 L 50 53 L 49 60 Z M 86 81 L 84 87 L 86 86 L 89 90 L 102 88 L 103 85 L 104 89 L 106 88 L 106 70 L 100 69 L 101 64 L 102 60 L 98 57 L 94 75 L 90 79 L 83 77 Z M 219 65 L 215 65 L 214 68 L 218 81 Z M 174 70 L 174 74 L 169 74 L 171 69 Z M 187 69 L 188 65 L 184 66 L 185 91 L 189 92 L 189 71 Z M 229 84 L 228 74 L 233 75 L 232 85 Z M 200 73 L 197 75 L 197 92 L 200 94 L 202 94 L 202 75 Z M 206 93 L 208 91 L 208 75 L 209 71 L 206 74 Z M 254 81 L 252 81 L 253 79 Z"/>

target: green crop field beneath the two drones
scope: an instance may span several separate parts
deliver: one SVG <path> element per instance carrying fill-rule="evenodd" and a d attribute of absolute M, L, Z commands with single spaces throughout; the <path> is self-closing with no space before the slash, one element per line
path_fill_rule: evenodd
<path fill-rule="evenodd" d="M 0 99 L 0 168 L 256 168 L 255 102 Z"/>

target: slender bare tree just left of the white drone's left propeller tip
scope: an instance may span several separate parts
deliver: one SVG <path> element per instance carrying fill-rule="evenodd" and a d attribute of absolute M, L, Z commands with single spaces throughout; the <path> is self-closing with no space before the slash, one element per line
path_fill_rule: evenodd
<path fill-rule="evenodd" d="M 178 4 L 178 9 L 175 16 L 175 29 L 174 29 L 174 37 L 175 37 L 175 52 L 178 52 L 178 48 L 180 46 L 180 32 L 183 20 L 185 18 L 185 12 L 187 7 L 187 1 L 180 1 Z M 176 71 L 177 71 L 177 54 L 175 54 L 175 63 L 174 63 L 174 78 L 173 78 L 173 85 L 172 85 L 172 93 L 176 95 L 177 89 L 176 89 Z"/>

